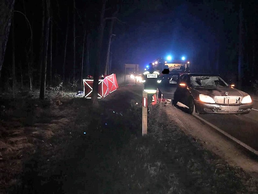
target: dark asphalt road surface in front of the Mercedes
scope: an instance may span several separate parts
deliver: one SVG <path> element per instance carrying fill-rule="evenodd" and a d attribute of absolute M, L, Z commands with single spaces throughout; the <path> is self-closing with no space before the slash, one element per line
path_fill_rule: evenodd
<path fill-rule="evenodd" d="M 258 151 L 258 100 L 249 114 L 199 114 L 221 130 Z"/>

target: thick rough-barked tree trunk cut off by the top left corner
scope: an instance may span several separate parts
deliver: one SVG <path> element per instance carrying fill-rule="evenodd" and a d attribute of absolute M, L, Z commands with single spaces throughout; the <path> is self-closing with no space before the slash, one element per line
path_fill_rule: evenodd
<path fill-rule="evenodd" d="M 5 59 L 6 44 L 12 22 L 14 3 L 15 0 L 4 0 L 0 2 L 0 78 Z"/>

